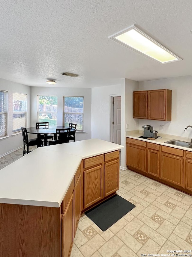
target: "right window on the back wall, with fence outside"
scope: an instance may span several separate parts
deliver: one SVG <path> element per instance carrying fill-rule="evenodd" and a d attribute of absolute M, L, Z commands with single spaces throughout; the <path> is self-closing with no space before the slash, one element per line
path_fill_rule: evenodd
<path fill-rule="evenodd" d="M 83 131 L 83 96 L 64 96 L 63 124 L 77 124 L 76 130 Z"/>

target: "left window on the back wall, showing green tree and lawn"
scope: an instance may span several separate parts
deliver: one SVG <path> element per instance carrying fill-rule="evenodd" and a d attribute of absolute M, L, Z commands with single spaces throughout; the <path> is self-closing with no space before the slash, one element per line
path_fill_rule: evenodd
<path fill-rule="evenodd" d="M 38 96 L 38 121 L 57 126 L 57 96 Z"/>

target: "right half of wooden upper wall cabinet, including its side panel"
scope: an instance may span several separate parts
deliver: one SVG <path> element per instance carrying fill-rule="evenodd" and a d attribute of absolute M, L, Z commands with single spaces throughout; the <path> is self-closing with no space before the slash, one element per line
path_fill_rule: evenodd
<path fill-rule="evenodd" d="M 171 121 L 171 90 L 148 91 L 148 119 Z"/>

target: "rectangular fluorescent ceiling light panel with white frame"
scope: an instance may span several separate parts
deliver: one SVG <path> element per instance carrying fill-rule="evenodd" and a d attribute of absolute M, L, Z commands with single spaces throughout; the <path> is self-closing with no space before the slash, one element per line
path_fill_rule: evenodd
<path fill-rule="evenodd" d="M 109 38 L 160 63 L 182 60 L 134 25 Z"/>

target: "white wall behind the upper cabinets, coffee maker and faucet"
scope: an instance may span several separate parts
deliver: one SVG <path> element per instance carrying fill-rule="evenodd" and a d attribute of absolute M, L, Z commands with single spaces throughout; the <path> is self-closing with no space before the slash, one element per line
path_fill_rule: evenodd
<path fill-rule="evenodd" d="M 153 121 L 139 119 L 139 128 L 150 124 L 159 133 L 175 136 L 191 137 L 192 130 L 187 125 L 192 125 L 192 76 L 170 79 L 151 80 L 139 82 L 139 90 L 171 89 L 172 90 L 172 120 Z M 159 125 L 164 125 L 164 131 L 159 130 Z"/>

